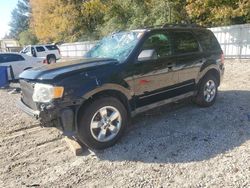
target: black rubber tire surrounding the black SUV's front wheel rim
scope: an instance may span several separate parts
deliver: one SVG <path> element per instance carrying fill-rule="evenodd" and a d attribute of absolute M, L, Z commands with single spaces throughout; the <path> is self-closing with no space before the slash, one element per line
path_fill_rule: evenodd
<path fill-rule="evenodd" d="M 114 138 L 108 141 L 101 142 L 97 140 L 98 138 L 95 138 L 93 136 L 94 133 L 93 133 L 93 129 L 91 129 L 91 122 L 93 118 L 96 118 L 98 116 L 97 114 L 100 113 L 98 112 L 100 109 L 106 108 L 108 106 L 109 107 L 111 106 L 119 111 L 120 113 L 119 117 L 121 117 L 121 121 L 120 121 L 121 123 L 120 123 L 119 130 L 117 131 L 117 133 L 115 133 L 116 136 Z M 101 118 L 101 114 L 99 114 L 99 116 Z M 101 120 L 98 120 L 98 121 L 101 122 Z M 80 110 L 78 114 L 78 139 L 91 149 L 98 149 L 98 150 L 105 149 L 110 146 L 113 146 L 121 138 L 122 134 L 124 133 L 127 127 L 127 123 L 128 123 L 127 110 L 118 99 L 113 98 L 113 97 L 99 98 L 89 103 L 88 105 L 84 106 L 84 108 Z M 101 128 L 97 128 L 96 131 L 101 132 Z M 106 134 L 108 134 L 108 131 L 105 133 L 105 135 Z"/>

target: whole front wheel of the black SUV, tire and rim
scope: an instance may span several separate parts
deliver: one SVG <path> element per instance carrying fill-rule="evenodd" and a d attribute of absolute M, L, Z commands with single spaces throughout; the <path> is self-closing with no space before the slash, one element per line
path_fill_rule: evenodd
<path fill-rule="evenodd" d="M 121 138 L 127 123 L 127 110 L 118 99 L 99 98 L 80 110 L 78 139 L 91 149 L 105 149 Z"/>

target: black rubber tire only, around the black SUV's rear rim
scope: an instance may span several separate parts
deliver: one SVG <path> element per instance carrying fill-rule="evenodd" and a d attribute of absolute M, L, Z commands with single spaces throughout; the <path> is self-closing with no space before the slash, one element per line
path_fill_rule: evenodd
<path fill-rule="evenodd" d="M 215 94 L 213 95 L 213 98 L 211 98 L 212 99 L 211 101 L 207 100 L 205 96 L 205 90 L 207 88 L 206 84 L 210 82 L 211 83 L 214 82 L 215 84 L 214 88 Z M 218 80 L 212 74 L 205 75 L 199 84 L 198 93 L 194 98 L 194 102 L 201 107 L 212 106 L 215 103 L 217 93 L 218 93 Z"/>

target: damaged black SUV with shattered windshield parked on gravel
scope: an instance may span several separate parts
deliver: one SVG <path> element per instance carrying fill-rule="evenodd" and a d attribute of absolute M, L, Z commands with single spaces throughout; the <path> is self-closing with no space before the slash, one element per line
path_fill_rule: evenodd
<path fill-rule="evenodd" d="M 81 60 L 20 75 L 19 107 L 90 148 L 113 145 L 130 117 L 186 97 L 208 107 L 224 72 L 223 52 L 202 27 L 112 33 Z"/>

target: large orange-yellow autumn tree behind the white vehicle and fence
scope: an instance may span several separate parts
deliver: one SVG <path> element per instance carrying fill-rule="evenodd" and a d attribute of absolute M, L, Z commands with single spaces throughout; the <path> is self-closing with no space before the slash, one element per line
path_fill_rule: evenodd
<path fill-rule="evenodd" d="M 98 35 L 105 5 L 101 0 L 31 0 L 31 10 L 31 28 L 40 41 L 74 42 Z"/>

